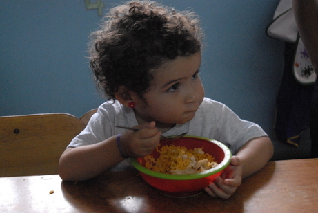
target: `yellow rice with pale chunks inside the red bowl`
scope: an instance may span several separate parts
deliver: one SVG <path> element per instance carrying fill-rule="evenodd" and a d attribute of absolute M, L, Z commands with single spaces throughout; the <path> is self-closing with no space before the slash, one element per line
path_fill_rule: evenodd
<path fill-rule="evenodd" d="M 145 167 L 156 172 L 168 174 L 192 174 L 202 172 L 217 166 L 214 157 L 203 152 L 203 148 L 187 149 L 184 146 L 165 145 L 160 150 L 160 156 L 146 155 Z"/>

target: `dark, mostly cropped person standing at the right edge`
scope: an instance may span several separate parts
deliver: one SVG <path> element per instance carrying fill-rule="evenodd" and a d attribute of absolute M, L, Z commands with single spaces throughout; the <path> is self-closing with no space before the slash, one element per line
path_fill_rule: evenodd
<path fill-rule="evenodd" d="M 311 157 L 318 157 L 318 0 L 292 0 L 299 35 L 315 69 L 315 90 L 310 108 Z"/>

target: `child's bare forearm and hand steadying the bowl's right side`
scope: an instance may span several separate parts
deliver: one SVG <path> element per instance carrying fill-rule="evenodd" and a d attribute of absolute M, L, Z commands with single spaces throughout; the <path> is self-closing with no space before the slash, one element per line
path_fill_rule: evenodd
<path fill-rule="evenodd" d="M 272 157 L 274 148 L 268 137 L 251 139 L 233 156 L 221 178 L 210 183 L 206 192 L 212 197 L 228 199 L 241 185 L 241 180 L 261 170 Z"/>

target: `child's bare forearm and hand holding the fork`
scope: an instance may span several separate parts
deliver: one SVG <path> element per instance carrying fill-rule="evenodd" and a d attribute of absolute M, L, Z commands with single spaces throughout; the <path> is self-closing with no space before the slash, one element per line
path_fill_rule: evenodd
<path fill-rule="evenodd" d="M 141 127 L 141 126 L 139 126 Z M 126 131 L 121 135 L 121 148 L 125 155 L 141 157 L 148 155 L 157 146 L 161 133 L 155 122 L 144 124 L 140 131 Z M 59 161 L 59 175 L 64 181 L 92 179 L 123 161 L 114 135 L 103 142 L 67 148 Z"/>

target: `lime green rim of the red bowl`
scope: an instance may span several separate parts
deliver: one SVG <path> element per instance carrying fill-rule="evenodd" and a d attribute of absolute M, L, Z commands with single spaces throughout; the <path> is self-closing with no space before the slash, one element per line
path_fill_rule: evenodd
<path fill-rule="evenodd" d="M 228 146 L 226 146 L 225 144 L 222 144 L 221 142 L 218 142 L 215 139 L 210 139 L 207 137 L 199 137 L 199 136 L 192 136 L 192 135 L 185 135 L 184 137 L 199 138 L 199 139 L 203 139 L 208 142 L 217 144 L 217 146 L 219 146 L 224 152 L 223 161 L 221 161 L 221 163 L 219 163 L 219 165 L 215 166 L 214 168 L 210 168 L 209 170 L 205 170 L 203 172 L 190 174 L 190 175 L 172 175 L 172 174 L 166 174 L 161 172 L 155 172 L 144 166 L 141 166 L 141 164 L 139 164 L 139 162 L 137 161 L 137 158 L 135 157 L 130 157 L 130 162 L 132 163 L 132 166 L 134 166 L 137 170 L 139 170 L 139 172 L 143 172 L 145 175 L 150 175 L 152 177 L 158 177 L 161 179 L 170 179 L 170 180 L 190 180 L 190 179 L 199 179 L 203 177 L 208 177 L 210 175 L 214 175 L 224 170 L 228 166 L 228 164 L 230 164 L 232 153 L 230 149 L 228 148 Z"/>

